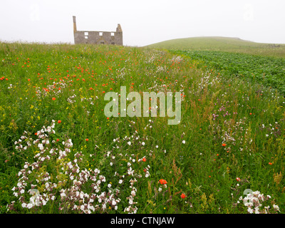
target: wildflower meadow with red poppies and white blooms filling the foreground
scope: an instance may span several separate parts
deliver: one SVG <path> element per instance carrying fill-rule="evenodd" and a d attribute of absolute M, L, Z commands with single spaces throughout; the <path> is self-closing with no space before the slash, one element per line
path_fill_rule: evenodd
<path fill-rule="evenodd" d="M 1 213 L 284 213 L 276 90 L 152 48 L 0 43 L 0 60 Z M 181 123 L 106 118 L 120 86 L 179 91 Z"/>

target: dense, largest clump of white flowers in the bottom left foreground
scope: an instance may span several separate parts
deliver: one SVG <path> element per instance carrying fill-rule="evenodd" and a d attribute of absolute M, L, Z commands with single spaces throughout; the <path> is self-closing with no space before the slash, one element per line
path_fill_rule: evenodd
<path fill-rule="evenodd" d="M 33 157 L 34 162 L 25 162 L 18 173 L 18 183 L 12 189 L 21 207 L 37 210 L 57 200 L 58 210 L 63 212 L 71 210 L 90 214 L 107 208 L 118 209 L 120 190 L 111 190 L 109 185 L 104 187 L 106 179 L 100 175 L 100 170 L 82 167 L 82 152 L 76 152 L 70 160 L 73 143 L 69 138 L 62 143 L 50 140 L 56 133 L 54 127 L 53 120 L 51 126 L 43 126 L 36 133 L 36 140 L 26 137 L 29 134 L 25 132 L 15 142 L 19 152 L 27 151 L 29 147 L 39 150 Z M 90 191 L 86 191 L 86 187 Z M 14 209 L 14 203 L 7 206 L 8 210 Z"/>

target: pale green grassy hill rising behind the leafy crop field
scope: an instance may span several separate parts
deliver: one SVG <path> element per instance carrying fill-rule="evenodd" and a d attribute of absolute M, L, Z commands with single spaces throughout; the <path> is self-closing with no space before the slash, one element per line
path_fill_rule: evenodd
<path fill-rule="evenodd" d="M 177 38 L 153 43 L 147 47 L 182 51 L 230 51 L 262 56 L 285 57 L 285 44 L 255 43 L 244 41 L 240 38 L 219 36 Z"/>

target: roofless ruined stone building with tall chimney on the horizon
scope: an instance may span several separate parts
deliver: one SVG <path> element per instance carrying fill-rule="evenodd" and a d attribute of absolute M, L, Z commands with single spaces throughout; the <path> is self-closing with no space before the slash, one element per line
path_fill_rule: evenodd
<path fill-rule="evenodd" d="M 123 31 L 118 24 L 116 31 L 77 31 L 76 16 L 73 16 L 74 43 L 123 45 Z"/>

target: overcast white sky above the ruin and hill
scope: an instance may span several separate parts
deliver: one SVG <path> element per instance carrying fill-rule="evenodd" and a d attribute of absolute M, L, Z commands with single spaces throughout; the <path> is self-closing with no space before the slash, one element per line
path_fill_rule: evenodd
<path fill-rule="evenodd" d="M 0 41 L 74 43 L 79 31 L 123 29 L 123 44 L 239 37 L 285 43 L 284 0 L 0 0 Z"/>

